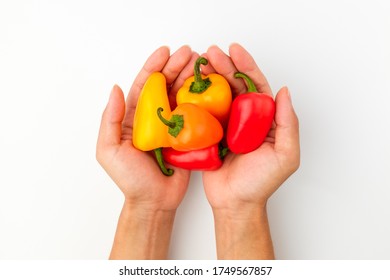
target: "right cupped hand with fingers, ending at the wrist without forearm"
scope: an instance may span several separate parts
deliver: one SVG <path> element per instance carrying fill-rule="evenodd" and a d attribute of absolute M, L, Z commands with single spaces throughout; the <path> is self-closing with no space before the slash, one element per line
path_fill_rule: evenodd
<path fill-rule="evenodd" d="M 223 75 L 233 94 L 245 93 L 247 89 L 242 79 L 233 77 L 240 71 L 252 78 L 259 92 L 272 96 L 266 78 L 240 45 L 231 45 L 229 56 L 216 46 L 210 47 L 205 55 L 210 63 L 203 72 Z M 264 207 L 268 198 L 298 168 L 298 119 L 286 87 L 279 90 L 275 102 L 273 128 L 257 150 L 239 155 L 229 153 L 219 170 L 203 173 L 205 192 L 213 210 L 229 210 L 240 215 L 246 206 Z"/>

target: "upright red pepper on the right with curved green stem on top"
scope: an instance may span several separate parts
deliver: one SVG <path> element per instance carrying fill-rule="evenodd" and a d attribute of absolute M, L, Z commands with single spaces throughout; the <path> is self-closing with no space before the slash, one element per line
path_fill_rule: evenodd
<path fill-rule="evenodd" d="M 237 72 L 234 77 L 245 79 L 248 92 L 233 101 L 226 140 L 233 153 L 245 154 L 260 147 L 266 138 L 274 120 L 275 102 L 271 96 L 258 93 L 246 74 Z"/>

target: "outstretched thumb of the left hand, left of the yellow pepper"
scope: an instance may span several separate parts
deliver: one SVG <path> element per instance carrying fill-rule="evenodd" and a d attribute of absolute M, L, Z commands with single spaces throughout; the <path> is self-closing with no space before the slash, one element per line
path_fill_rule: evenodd
<path fill-rule="evenodd" d="M 97 141 L 98 151 L 120 145 L 124 113 L 125 98 L 123 91 L 115 85 L 111 90 L 110 98 L 102 115 Z"/>

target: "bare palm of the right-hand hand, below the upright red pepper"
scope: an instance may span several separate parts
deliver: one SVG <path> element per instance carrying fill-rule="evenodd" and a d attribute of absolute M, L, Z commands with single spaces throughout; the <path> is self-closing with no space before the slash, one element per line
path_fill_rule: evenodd
<path fill-rule="evenodd" d="M 203 174 L 207 198 L 213 208 L 265 202 L 274 192 L 275 182 L 280 181 L 279 169 L 271 142 L 248 154 L 228 154 L 219 170 Z"/>

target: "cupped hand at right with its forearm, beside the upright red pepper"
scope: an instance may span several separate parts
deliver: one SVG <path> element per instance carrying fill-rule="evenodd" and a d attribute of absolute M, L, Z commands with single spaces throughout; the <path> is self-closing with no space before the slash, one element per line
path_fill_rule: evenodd
<path fill-rule="evenodd" d="M 259 92 L 272 96 L 266 78 L 240 45 L 230 47 L 230 57 L 215 46 L 206 55 L 210 66 L 203 72 L 225 76 L 233 93 L 246 92 L 244 82 L 233 77 L 240 71 L 252 78 Z M 273 258 L 266 203 L 300 161 L 298 119 L 287 88 L 278 92 L 275 102 L 274 127 L 257 150 L 242 155 L 230 153 L 219 170 L 203 173 L 221 258 Z"/>

